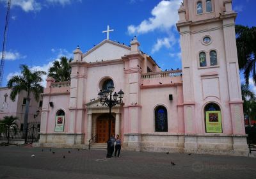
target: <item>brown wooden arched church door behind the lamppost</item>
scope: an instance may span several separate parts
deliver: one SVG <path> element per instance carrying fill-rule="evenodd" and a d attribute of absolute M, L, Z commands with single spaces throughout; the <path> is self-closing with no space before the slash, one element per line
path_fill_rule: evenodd
<path fill-rule="evenodd" d="M 97 143 L 106 143 L 108 141 L 108 123 L 109 114 L 101 114 L 97 118 L 96 132 Z M 115 118 L 111 115 L 111 130 L 110 134 L 115 134 Z"/>

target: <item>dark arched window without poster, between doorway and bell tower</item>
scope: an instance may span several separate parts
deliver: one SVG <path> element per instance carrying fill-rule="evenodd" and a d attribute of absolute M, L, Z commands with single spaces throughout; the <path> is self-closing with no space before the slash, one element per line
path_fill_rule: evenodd
<path fill-rule="evenodd" d="M 163 105 L 155 109 L 155 132 L 168 132 L 167 110 Z"/>

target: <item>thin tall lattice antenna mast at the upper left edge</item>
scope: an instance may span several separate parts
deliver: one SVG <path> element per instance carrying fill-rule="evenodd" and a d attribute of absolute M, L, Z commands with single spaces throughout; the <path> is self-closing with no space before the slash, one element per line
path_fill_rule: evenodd
<path fill-rule="evenodd" d="M 2 57 L 1 57 L 1 65 L 0 65 L 0 86 L 2 86 L 3 74 L 4 74 L 4 55 L 5 55 L 5 50 L 6 50 L 10 8 L 11 8 L 11 0 L 8 0 L 8 7 L 7 7 L 7 13 L 6 13 L 6 19 L 5 19 L 5 27 L 4 27 L 3 49 L 2 49 Z"/>

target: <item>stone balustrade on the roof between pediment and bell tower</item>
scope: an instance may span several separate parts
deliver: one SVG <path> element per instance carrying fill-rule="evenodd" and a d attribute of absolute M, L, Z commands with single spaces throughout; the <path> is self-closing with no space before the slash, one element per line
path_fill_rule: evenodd
<path fill-rule="evenodd" d="M 156 79 L 156 78 L 179 77 L 179 76 L 182 76 L 182 70 L 171 70 L 166 72 L 151 72 L 147 74 L 142 74 L 141 79 Z"/>

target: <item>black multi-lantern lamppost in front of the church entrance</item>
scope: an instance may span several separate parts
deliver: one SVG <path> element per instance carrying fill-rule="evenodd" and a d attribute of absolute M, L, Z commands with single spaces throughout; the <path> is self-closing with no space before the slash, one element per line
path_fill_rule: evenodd
<path fill-rule="evenodd" d="M 108 89 L 100 90 L 98 93 L 98 98 L 100 99 L 100 104 L 106 105 L 109 107 L 109 118 L 108 118 L 108 154 L 107 158 L 112 157 L 111 148 L 109 147 L 110 144 L 110 133 L 111 133 L 111 108 L 115 106 L 116 104 L 122 104 L 122 98 L 124 97 L 124 92 L 122 89 L 118 93 L 112 93 L 114 92 L 115 87 L 114 86 L 108 86 Z M 113 96 L 113 99 L 112 99 Z M 119 97 L 119 100 L 117 98 Z"/>

